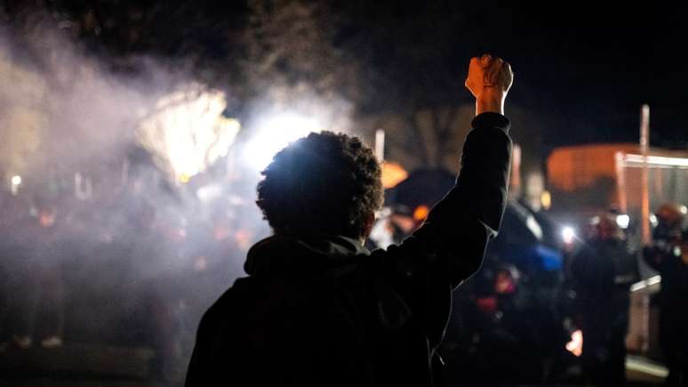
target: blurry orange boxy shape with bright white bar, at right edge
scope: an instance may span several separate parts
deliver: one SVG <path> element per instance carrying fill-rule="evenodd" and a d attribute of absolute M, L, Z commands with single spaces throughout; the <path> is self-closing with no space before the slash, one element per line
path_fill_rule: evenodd
<path fill-rule="evenodd" d="M 547 179 L 556 213 L 595 214 L 613 207 L 637 219 L 644 189 L 651 211 L 667 202 L 688 203 L 688 150 L 651 148 L 645 164 L 634 143 L 558 148 L 548 157 Z"/>

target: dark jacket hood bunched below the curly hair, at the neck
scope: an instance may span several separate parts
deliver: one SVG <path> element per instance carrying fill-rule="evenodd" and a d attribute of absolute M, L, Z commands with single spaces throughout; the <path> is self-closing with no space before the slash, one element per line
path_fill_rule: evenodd
<path fill-rule="evenodd" d="M 251 247 L 244 263 L 248 275 L 285 272 L 328 272 L 337 276 L 351 270 L 368 249 L 352 238 L 265 238 Z"/>

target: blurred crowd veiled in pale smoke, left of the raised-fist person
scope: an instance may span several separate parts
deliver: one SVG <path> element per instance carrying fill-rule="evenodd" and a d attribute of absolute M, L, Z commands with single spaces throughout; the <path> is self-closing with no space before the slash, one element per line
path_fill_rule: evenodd
<path fill-rule="evenodd" d="M 149 347 L 161 375 L 185 367 L 204 310 L 263 231 L 225 202 L 172 211 L 141 181 L 85 200 L 4 193 L 0 353 Z"/>

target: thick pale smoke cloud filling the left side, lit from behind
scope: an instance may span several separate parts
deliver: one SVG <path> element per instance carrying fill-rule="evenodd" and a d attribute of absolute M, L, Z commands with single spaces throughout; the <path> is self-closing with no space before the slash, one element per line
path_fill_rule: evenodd
<path fill-rule="evenodd" d="M 55 26 L 0 29 L 0 342 L 48 325 L 184 369 L 268 226 L 225 171 L 226 93 L 165 60 L 114 61 Z"/>

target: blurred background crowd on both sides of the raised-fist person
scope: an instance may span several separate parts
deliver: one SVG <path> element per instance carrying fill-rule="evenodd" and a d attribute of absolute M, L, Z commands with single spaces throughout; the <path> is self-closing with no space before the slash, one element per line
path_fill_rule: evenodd
<path fill-rule="evenodd" d="M 7 194 L 1 207 L 6 234 L 0 350 L 65 342 L 150 346 L 162 368 L 183 367 L 204 310 L 245 275 L 244 256 L 254 233 L 236 227 L 226 212 L 180 222 L 135 189 L 114 194 L 108 203 L 27 201 Z M 484 262 L 454 292 L 442 349 L 451 365 L 448 379 L 500 385 L 563 377 L 574 363 L 564 344 L 581 329 L 584 375 L 596 385 L 620 385 L 628 288 L 640 279 L 642 257 L 662 278 L 662 292 L 653 302 L 661 308 L 668 385 L 681 385 L 688 348 L 683 326 L 688 242 L 680 206 L 662 206 L 657 219 L 653 243 L 641 254 L 628 250 L 613 217 L 594 218 L 561 281 L 544 295 L 527 274 L 523 278 L 523 268 Z M 392 241 L 407 234 L 386 229 Z"/>

